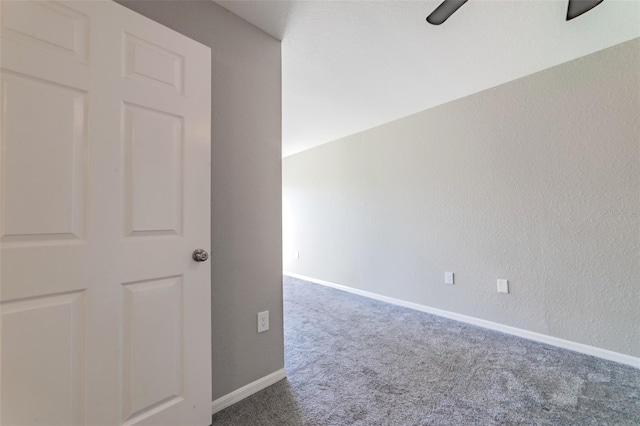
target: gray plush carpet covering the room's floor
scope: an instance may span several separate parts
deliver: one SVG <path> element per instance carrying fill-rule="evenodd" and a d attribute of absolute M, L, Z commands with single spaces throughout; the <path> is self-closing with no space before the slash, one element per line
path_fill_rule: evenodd
<path fill-rule="evenodd" d="M 284 278 L 287 379 L 213 425 L 640 425 L 640 370 Z"/>

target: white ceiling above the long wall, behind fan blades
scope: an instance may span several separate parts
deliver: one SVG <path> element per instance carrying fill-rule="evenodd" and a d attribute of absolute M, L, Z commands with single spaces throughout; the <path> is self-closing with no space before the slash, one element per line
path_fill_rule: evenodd
<path fill-rule="evenodd" d="M 640 36 L 640 2 L 217 1 L 282 40 L 283 156 Z"/>

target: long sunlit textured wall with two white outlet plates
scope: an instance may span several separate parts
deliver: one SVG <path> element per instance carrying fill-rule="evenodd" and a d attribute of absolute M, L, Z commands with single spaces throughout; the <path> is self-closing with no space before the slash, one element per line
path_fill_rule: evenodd
<path fill-rule="evenodd" d="M 285 270 L 640 356 L 638 69 L 635 39 L 285 158 Z"/>

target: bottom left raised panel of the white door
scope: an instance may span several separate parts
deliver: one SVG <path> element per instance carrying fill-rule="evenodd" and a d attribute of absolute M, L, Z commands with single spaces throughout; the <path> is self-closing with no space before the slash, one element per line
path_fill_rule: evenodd
<path fill-rule="evenodd" d="M 4 302 L 3 425 L 84 424 L 84 292 Z"/>

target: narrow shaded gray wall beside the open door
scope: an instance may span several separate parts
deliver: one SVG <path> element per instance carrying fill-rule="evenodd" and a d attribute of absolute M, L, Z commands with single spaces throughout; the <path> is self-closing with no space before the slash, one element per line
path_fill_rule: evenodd
<path fill-rule="evenodd" d="M 211 1 L 118 1 L 211 47 L 213 398 L 284 365 L 280 42 Z M 257 334 L 256 314 L 270 330 Z"/>

